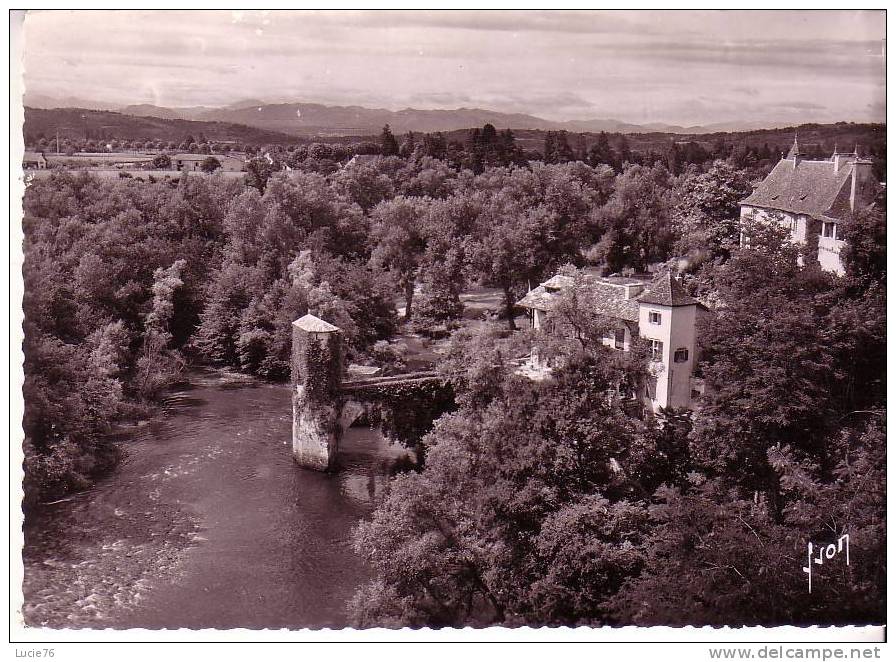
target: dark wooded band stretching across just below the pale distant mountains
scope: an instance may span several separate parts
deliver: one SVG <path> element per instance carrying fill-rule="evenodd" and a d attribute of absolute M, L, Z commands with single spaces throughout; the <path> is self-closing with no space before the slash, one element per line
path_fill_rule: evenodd
<path fill-rule="evenodd" d="M 134 119 L 150 121 L 152 118 Z M 846 122 L 691 136 L 530 130 L 515 134 L 510 130 L 498 131 L 491 124 L 465 132 L 410 132 L 394 136 L 387 125 L 378 139 L 343 137 L 331 139 L 330 142 L 268 135 L 257 130 L 253 130 L 256 133 L 252 134 L 251 139 L 241 136 L 240 139 L 222 140 L 221 132 L 211 129 L 209 135 L 214 138 L 207 137 L 205 132 L 199 130 L 181 133 L 179 139 L 171 139 L 172 132 L 168 132 L 165 138 L 123 137 L 114 131 L 107 137 L 96 137 L 85 129 L 83 135 L 63 131 L 58 145 L 52 131 L 41 132 L 34 126 L 26 127 L 26 144 L 40 151 L 55 151 L 58 147 L 65 154 L 116 150 L 225 155 L 235 152 L 249 156 L 267 154 L 275 160 L 278 169 L 311 169 L 323 174 L 335 171 L 340 163 L 352 156 L 372 154 L 403 158 L 429 156 L 444 160 L 456 169 L 469 169 L 476 174 L 486 167 L 522 165 L 528 161 L 583 161 L 592 166 L 606 164 L 617 172 L 621 172 L 626 163 L 652 165 L 661 161 L 674 175 L 681 174 L 691 164 L 705 166 L 718 159 L 728 160 L 737 168 L 769 168 L 786 155 L 793 144 L 794 135 L 798 135 L 801 150 L 807 158 L 826 159 L 835 149 L 858 149 L 861 156 L 874 162 L 875 176 L 880 181 L 886 179 L 883 125 Z M 113 128 L 105 127 L 105 130 Z M 517 134 L 523 138 L 520 139 Z M 273 136 L 276 137 L 270 139 Z"/>

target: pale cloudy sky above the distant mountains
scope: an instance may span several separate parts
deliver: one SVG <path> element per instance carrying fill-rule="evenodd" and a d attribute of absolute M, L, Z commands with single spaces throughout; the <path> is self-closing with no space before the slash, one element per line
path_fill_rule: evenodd
<path fill-rule="evenodd" d="M 885 121 L 883 11 L 38 11 L 27 93 L 488 108 L 684 126 Z"/>

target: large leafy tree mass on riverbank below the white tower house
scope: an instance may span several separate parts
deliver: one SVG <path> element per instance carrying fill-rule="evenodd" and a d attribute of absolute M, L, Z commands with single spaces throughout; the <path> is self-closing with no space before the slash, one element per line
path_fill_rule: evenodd
<path fill-rule="evenodd" d="M 640 569 L 646 509 L 601 494 L 637 428 L 605 397 L 609 374 L 597 357 L 558 384 L 496 373 L 501 344 L 464 371 L 497 377 L 496 395 L 439 419 L 426 467 L 354 536 L 376 573 L 352 601 L 357 625 L 596 624 Z"/>

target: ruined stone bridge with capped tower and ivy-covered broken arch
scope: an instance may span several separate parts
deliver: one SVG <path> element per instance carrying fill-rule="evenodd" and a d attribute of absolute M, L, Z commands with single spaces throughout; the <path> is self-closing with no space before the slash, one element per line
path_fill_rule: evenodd
<path fill-rule="evenodd" d="M 362 414 L 401 438 L 422 435 L 452 406 L 451 385 L 435 372 L 343 380 L 340 329 L 314 315 L 293 322 L 292 452 L 301 466 L 333 469 L 342 434 Z"/>

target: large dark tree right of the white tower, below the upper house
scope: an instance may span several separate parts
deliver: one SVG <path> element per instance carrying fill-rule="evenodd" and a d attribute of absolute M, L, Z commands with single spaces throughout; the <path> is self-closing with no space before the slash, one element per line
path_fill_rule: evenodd
<path fill-rule="evenodd" d="M 882 300 L 876 288 L 844 297 L 817 264 L 799 267 L 797 247 L 777 224 L 745 232 L 749 248 L 715 272 L 719 306 L 698 325 L 707 396 L 691 452 L 711 475 L 765 493 L 780 517 L 782 486 L 768 450 L 787 445 L 798 459 L 821 462 L 842 417 L 882 401 L 885 333 L 872 312 Z"/>

